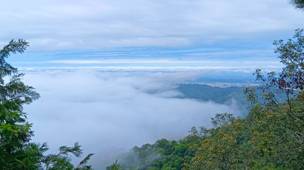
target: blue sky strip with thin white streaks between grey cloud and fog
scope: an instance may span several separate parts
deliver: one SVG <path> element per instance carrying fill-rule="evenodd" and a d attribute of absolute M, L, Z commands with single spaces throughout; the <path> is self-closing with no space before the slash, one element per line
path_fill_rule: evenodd
<path fill-rule="evenodd" d="M 265 71 L 282 68 L 273 49 L 262 45 L 29 51 L 9 60 L 21 71 L 94 69 L 103 72 L 209 72 L 210 77 L 230 72 L 236 75 L 247 73 L 247 77 L 252 77 L 252 72 L 257 68 Z"/>

